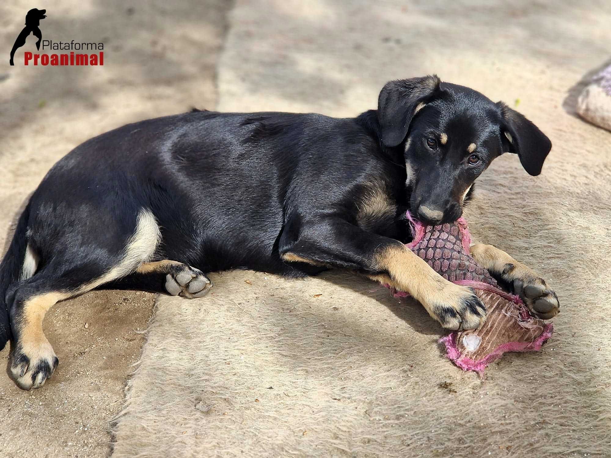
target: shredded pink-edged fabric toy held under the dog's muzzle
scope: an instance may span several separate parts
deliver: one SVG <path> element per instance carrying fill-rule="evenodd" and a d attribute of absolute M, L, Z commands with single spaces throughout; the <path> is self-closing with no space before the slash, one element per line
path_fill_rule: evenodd
<path fill-rule="evenodd" d="M 490 273 L 475 263 L 469 254 L 471 236 L 466 220 L 425 226 L 409 213 L 407 216 L 414 235 L 409 249 L 446 280 L 473 288 L 488 311 L 480 329 L 455 331 L 441 338 L 447 357 L 459 368 L 483 376 L 486 366 L 505 352 L 540 350 L 554 326 L 532 316 L 519 296 L 503 291 Z"/>

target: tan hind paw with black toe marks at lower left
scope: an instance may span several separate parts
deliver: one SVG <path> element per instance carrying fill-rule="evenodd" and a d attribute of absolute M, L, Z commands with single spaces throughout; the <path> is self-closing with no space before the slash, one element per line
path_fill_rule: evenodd
<path fill-rule="evenodd" d="M 42 387 L 58 363 L 59 359 L 46 339 L 38 343 L 17 343 L 10 371 L 17 385 L 31 390 Z"/>

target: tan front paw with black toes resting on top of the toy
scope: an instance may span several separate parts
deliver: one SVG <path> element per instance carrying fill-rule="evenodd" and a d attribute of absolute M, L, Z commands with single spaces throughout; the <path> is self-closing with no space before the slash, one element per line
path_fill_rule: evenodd
<path fill-rule="evenodd" d="M 448 282 L 440 294 L 429 299 L 426 310 L 445 329 L 478 329 L 486 321 L 486 307 L 466 286 Z"/>

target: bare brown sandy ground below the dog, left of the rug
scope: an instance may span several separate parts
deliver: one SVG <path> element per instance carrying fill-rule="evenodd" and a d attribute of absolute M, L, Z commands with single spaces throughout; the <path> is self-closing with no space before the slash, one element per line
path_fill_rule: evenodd
<path fill-rule="evenodd" d="M 95 291 L 49 311 L 45 333 L 59 368 L 48 387 L 29 392 L 2 374 L 0 456 L 108 454 L 108 421 L 122 407 L 123 387 L 139 356 L 153 297 Z M 7 356 L 5 349 L 4 366 Z"/>

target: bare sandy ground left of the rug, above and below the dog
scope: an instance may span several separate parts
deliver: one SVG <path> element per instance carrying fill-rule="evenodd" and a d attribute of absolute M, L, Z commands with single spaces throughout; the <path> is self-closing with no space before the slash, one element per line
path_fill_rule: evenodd
<path fill-rule="evenodd" d="M 32 4 L 0 6 L 0 247 L 46 171 L 71 148 L 128 122 L 214 107 L 224 0 L 62 1 L 46 6 L 44 39 L 103 42 L 103 67 L 24 67 L 31 35 L 9 53 Z M 38 5 L 39 8 L 45 7 Z M 59 357 L 42 390 L 0 376 L 0 456 L 107 456 L 109 420 L 122 407 L 153 294 L 94 291 L 53 307 L 45 333 Z M 87 326 L 87 327 L 86 327 Z M 9 347 L 0 352 L 8 368 Z"/>

